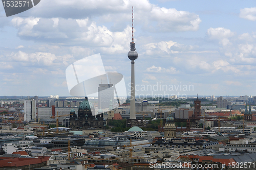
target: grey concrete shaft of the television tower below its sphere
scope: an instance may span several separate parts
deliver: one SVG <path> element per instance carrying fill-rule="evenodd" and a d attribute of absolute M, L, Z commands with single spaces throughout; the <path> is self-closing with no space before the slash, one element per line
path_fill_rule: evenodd
<path fill-rule="evenodd" d="M 132 74 L 131 74 L 131 105 L 130 105 L 130 119 L 136 119 L 135 113 L 135 74 L 134 74 L 134 60 L 131 61 L 132 64 Z"/>

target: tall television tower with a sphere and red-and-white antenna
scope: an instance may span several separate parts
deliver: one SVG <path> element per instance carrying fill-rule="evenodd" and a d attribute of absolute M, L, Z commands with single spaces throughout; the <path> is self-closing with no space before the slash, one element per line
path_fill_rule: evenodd
<path fill-rule="evenodd" d="M 132 23 L 133 23 L 133 17 L 132 17 Z M 132 27 L 132 42 L 130 42 L 130 52 L 128 53 L 128 58 L 131 61 L 132 64 L 132 75 L 131 75 L 131 106 L 130 106 L 130 119 L 136 119 L 135 114 L 135 76 L 134 76 L 134 60 L 138 58 L 138 53 L 135 51 L 135 43 L 133 39 L 133 27 Z"/>

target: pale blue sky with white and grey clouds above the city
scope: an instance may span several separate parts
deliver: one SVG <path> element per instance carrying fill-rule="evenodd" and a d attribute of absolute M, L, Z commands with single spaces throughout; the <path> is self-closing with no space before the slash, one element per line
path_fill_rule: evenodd
<path fill-rule="evenodd" d="M 1 5 L 0 95 L 69 96 L 66 68 L 98 53 L 129 89 L 132 6 L 137 94 L 256 95 L 255 0 L 41 0 L 11 17 Z"/>

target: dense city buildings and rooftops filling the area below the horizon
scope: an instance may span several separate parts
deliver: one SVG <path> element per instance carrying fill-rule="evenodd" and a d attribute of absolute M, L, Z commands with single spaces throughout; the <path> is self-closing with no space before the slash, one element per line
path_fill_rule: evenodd
<path fill-rule="evenodd" d="M 239 107 L 238 110 L 218 108 L 217 100 L 209 103 L 207 97 L 188 98 L 189 103 L 182 101 L 176 107 L 158 106 L 147 100 L 147 110 L 136 112 L 138 127 L 120 132 L 115 130 L 123 125 L 129 127 L 125 124 L 126 118 L 130 117 L 129 105 L 103 112 L 95 104 L 98 99 L 90 103 L 83 98 L 55 99 L 55 103 L 65 101 L 67 107 L 48 107 L 48 99 L 38 96 L 34 109 L 37 111 L 34 115 L 38 117 L 32 116 L 31 120 L 23 122 L 25 105 L 31 108 L 33 100 L 2 101 L 0 109 L 8 114 L 2 115 L 0 124 L 1 135 L 6 135 L 0 139 L 0 158 L 4 162 L 0 169 L 16 167 L 5 163 L 10 159 L 16 162 L 17 167 L 28 169 L 32 165 L 53 169 L 103 168 L 104 165 L 104 169 L 141 170 L 141 165 L 144 169 L 152 169 L 149 162 L 204 165 L 206 162 L 201 159 L 221 164 L 245 162 L 242 161 L 244 157 L 256 162 L 251 158 L 256 152 L 256 107 L 248 102 L 251 98 L 236 105 L 237 99 L 226 100 L 233 103 L 233 108 Z M 79 106 L 72 106 L 73 101 L 80 103 Z M 137 101 L 142 103 L 143 100 Z M 177 101 L 170 99 L 168 102 Z M 193 103 L 194 107 L 190 107 Z M 27 109 L 26 112 L 30 117 L 33 115 Z M 114 125 L 113 121 L 118 124 Z M 57 123 L 66 128 L 58 127 L 58 131 L 57 127 L 50 128 Z M 29 162 L 31 159 L 33 162 Z M 24 166 L 20 166 L 22 162 Z"/>

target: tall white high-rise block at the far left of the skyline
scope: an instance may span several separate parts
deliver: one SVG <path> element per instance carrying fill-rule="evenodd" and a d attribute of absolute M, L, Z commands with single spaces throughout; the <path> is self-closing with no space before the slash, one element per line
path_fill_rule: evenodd
<path fill-rule="evenodd" d="M 36 118 L 36 101 L 24 101 L 24 120 L 29 122 Z"/>

